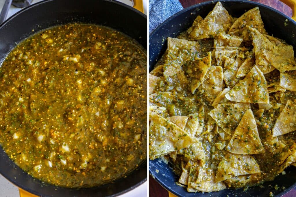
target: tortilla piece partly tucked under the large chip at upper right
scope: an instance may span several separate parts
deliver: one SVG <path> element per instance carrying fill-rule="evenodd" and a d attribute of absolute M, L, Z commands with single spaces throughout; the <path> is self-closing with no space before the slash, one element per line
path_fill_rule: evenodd
<path fill-rule="evenodd" d="M 255 53 L 255 62 L 258 68 L 263 72 L 263 74 L 267 74 L 273 71 L 275 68 L 270 64 L 270 62 L 263 55 L 262 51 L 266 48 L 272 48 L 273 44 L 258 30 L 254 28 L 249 28 L 254 46 Z"/>

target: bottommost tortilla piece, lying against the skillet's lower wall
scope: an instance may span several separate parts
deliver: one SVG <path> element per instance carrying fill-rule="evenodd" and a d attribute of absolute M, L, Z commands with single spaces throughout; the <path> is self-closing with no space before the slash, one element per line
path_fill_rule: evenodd
<path fill-rule="evenodd" d="M 226 189 L 223 182 L 215 182 L 215 172 L 213 169 L 200 165 L 195 182 L 190 183 L 191 187 L 201 192 L 221 191 Z"/>

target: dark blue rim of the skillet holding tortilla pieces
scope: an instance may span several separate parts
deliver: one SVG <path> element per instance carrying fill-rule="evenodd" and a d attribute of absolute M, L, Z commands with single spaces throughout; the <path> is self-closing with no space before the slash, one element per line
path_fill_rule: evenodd
<path fill-rule="evenodd" d="M 194 4 L 192 6 L 189 6 L 185 9 L 182 9 L 181 11 L 173 14 L 171 17 L 169 17 L 168 19 L 166 19 L 164 22 L 162 22 L 160 25 L 158 25 L 150 34 L 149 34 L 149 45 L 150 45 L 150 39 L 152 39 L 152 37 L 155 37 L 155 34 L 156 32 L 158 32 L 161 28 L 163 28 L 163 26 L 170 22 L 171 20 L 174 20 L 175 18 L 177 18 L 179 15 L 187 12 L 188 10 L 191 10 L 191 9 L 196 9 L 196 8 L 200 8 L 204 5 L 208 5 L 208 4 L 216 4 L 218 1 L 220 1 L 222 4 L 224 2 L 235 2 L 235 3 L 247 3 L 247 4 L 250 4 L 250 5 L 254 5 L 254 6 L 261 6 L 261 7 L 264 7 L 266 9 L 269 9 L 271 12 L 276 12 L 277 14 L 280 14 L 281 16 L 283 17 L 286 17 L 288 19 L 288 22 L 291 22 L 294 26 L 296 26 L 296 21 L 293 20 L 291 17 L 287 16 L 286 14 L 270 7 L 270 6 L 267 6 L 265 4 L 261 4 L 261 3 L 258 3 L 258 2 L 255 2 L 255 1 L 250 1 L 250 0 L 213 0 L 213 1 L 205 1 L 205 2 L 202 2 L 202 3 L 199 3 L 199 4 Z M 293 10 L 292 10 L 293 11 Z M 198 11 L 196 11 L 198 12 Z M 176 35 L 177 36 L 177 35 Z M 158 58 L 159 58 L 159 55 L 158 54 Z M 156 61 L 157 62 L 157 61 Z M 150 68 L 152 69 L 154 67 L 154 65 L 151 65 L 151 62 L 150 62 L 150 56 L 149 56 L 149 72 L 150 72 Z M 152 160 L 149 159 L 149 163 L 151 162 Z M 169 167 L 168 167 L 169 168 Z M 173 172 L 174 173 L 174 172 Z M 163 188 L 165 188 L 167 191 L 173 193 L 174 195 L 178 196 L 179 194 L 174 191 L 173 189 L 171 189 L 169 186 L 166 186 L 161 180 L 160 178 L 158 178 L 158 173 L 155 173 L 153 172 L 152 170 L 150 170 L 150 165 L 149 165 L 149 175 L 151 175 L 151 177 L 153 179 L 155 179 L 157 181 L 157 183 L 159 183 Z M 181 187 L 181 186 L 180 186 Z M 288 193 L 289 191 L 291 191 L 293 188 L 296 187 L 296 182 L 293 183 L 290 187 L 284 189 L 284 191 L 280 192 L 279 194 L 276 195 L 276 197 L 279 197 L 279 196 L 283 196 L 284 194 Z M 228 188 L 226 188 L 227 190 Z M 189 192 L 188 192 L 189 193 Z M 199 192 L 200 193 L 200 192 Z"/>

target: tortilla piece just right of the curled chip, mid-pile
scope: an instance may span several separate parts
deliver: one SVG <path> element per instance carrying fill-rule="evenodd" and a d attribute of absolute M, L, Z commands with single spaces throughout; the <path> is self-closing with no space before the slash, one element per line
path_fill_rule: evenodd
<path fill-rule="evenodd" d="M 209 102 L 217 97 L 222 91 L 223 85 L 223 69 L 221 66 L 212 66 L 213 71 L 208 74 L 207 79 L 198 88 L 200 92 L 207 98 Z"/>

